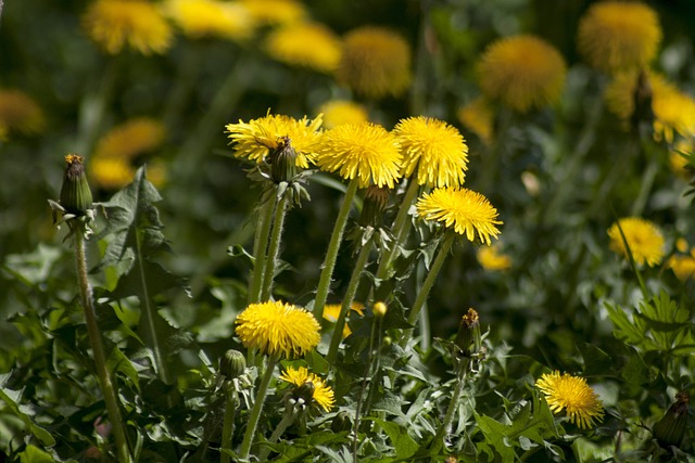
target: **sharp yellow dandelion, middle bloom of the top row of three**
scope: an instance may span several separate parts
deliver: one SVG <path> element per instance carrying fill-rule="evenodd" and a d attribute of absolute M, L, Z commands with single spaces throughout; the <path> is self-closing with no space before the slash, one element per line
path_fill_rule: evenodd
<path fill-rule="evenodd" d="M 340 177 L 359 179 L 359 188 L 370 184 L 393 188 L 401 177 L 403 155 L 393 133 L 371 123 L 343 124 L 321 137 L 316 164 Z"/>

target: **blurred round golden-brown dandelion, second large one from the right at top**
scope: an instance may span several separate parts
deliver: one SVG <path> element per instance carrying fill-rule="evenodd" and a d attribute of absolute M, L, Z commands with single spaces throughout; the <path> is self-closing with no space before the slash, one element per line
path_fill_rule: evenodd
<path fill-rule="evenodd" d="M 478 70 L 486 97 L 525 113 L 559 100 L 567 66 L 553 46 L 523 35 L 488 47 Z"/>

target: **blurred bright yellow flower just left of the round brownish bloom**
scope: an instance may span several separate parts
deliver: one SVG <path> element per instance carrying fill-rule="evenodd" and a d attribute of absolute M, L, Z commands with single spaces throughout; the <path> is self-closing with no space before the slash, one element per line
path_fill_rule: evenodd
<path fill-rule="evenodd" d="M 328 27 L 318 23 L 298 23 L 268 34 L 265 48 L 270 56 L 286 64 L 330 74 L 338 67 L 341 42 Z"/>

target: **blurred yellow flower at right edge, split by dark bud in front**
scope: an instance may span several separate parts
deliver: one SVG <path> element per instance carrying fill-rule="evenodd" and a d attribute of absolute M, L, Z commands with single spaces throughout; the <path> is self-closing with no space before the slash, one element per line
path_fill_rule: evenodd
<path fill-rule="evenodd" d="M 647 72 L 646 79 L 652 88 L 655 140 L 672 143 L 674 133 L 682 137 L 694 136 L 695 100 L 658 74 Z M 616 76 L 606 88 L 608 110 L 626 124 L 630 121 L 634 112 L 637 80 L 637 73 L 623 73 Z"/>

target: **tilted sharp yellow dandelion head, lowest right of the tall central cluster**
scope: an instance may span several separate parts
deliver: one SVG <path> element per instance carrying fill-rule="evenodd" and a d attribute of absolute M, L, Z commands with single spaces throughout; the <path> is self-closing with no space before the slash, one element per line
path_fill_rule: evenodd
<path fill-rule="evenodd" d="M 490 245 L 490 236 L 496 239 L 502 221 L 497 220 L 497 209 L 485 196 L 465 188 L 440 188 L 425 193 L 416 204 L 417 215 L 425 220 L 444 222 L 469 241 L 476 235 Z"/>

